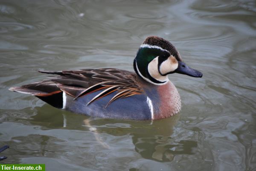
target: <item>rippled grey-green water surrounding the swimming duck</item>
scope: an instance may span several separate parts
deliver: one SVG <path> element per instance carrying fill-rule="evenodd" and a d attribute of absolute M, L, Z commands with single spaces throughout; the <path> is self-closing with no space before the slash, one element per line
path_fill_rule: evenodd
<path fill-rule="evenodd" d="M 203 78 L 173 74 L 177 116 L 93 119 L 8 91 L 44 70 L 132 71 L 148 35 L 171 41 Z M 51 171 L 255 171 L 256 3 L 0 1 L 1 163 Z"/>

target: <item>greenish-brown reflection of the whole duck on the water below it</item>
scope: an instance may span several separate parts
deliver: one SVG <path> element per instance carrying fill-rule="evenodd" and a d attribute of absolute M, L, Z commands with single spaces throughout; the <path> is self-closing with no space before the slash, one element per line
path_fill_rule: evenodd
<path fill-rule="evenodd" d="M 180 118 L 180 114 L 166 119 L 138 121 L 102 119 L 84 115 L 73 115 L 73 113 L 57 110 L 48 104 L 44 104 L 42 107 L 35 107 L 35 110 L 37 111 L 36 115 L 31 116 L 30 119 L 26 119 L 26 121 L 31 122 L 32 125 L 35 125 L 36 123 L 36 125 L 39 125 L 44 129 L 63 129 L 65 133 L 64 137 L 67 139 L 74 138 L 73 135 L 68 135 L 68 133 L 70 133 L 69 130 L 71 130 L 71 132 L 73 132 L 73 130 L 79 130 L 79 132 L 85 131 L 82 133 L 82 135 L 85 136 L 93 134 L 95 139 L 91 139 L 92 136 L 88 135 L 88 137 L 90 137 L 88 142 L 86 142 L 84 136 L 81 137 L 81 139 L 79 137 L 75 138 L 81 140 L 81 144 L 78 144 L 76 148 L 78 151 L 80 151 L 79 148 L 85 148 L 84 143 L 91 142 L 95 143 L 94 146 L 98 150 L 100 146 L 106 150 L 111 150 L 116 145 L 115 143 L 119 143 L 119 137 L 128 140 L 131 137 L 134 151 L 145 159 L 157 162 L 170 162 L 177 155 L 191 155 L 195 154 L 197 151 L 197 141 L 191 141 L 191 138 L 188 138 L 187 136 L 177 135 L 179 131 L 175 131 L 175 129 L 179 129 L 175 128 L 175 125 Z M 88 131 L 91 133 L 88 133 Z M 106 136 L 109 137 L 108 140 L 110 141 L 106 140 Z M 35 139 L 35 142 L 37 141 L 38 140 Z M 62 141 L 63 140 L 61 140 L 61 142 Z M 44 142 L 44 144 L 48 143 L 51 144 L 51 142 Z M 69 145 L 70 142 L 67 140 L 67 143 Z M 62 146 L 58 146 L 58 148 L 61 150 Z M 64 151 L 66 150 L 67 149 Z M 84 151 L 84 153 L 81 152 L 81 154 L 86 153 L 87 151 Z"/>

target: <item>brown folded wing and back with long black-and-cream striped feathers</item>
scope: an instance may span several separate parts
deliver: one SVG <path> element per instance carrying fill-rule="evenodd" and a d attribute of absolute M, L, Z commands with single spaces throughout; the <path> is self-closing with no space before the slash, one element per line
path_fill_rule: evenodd
<path fill-rule="evenodd" d="M 96 70 L 39 72 L 59 75 L 58 77 L 52 78 L 48 81 L 50 81 L 50 84 L 55 83 L 55 86 L 57 86 L 59 90 L 74 97 L 74 100 L 81 96 L 86 96 L 89 93 L 102 90 L 94 96 L 87 105 L 113 92 L 117 93 L 108 102 L 106 107 L 116 99 L 126 98 L 143 92 L 141 87 L 137 84 L 136 74 L 126 70 L 104 68 Z M 25 86 L 28 87 L 27 85 Z M 58 93 L 57 91 L 58 90 L 55 90 L 54 92 Z"/>

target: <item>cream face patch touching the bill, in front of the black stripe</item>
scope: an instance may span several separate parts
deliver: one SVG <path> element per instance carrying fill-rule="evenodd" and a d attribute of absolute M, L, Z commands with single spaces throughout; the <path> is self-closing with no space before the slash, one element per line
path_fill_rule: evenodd
<path fill-rule="evenodd" d="M 174 56 L 169 57 L 168 59 L 166 59 L 165 61 L 162 62 L 162 64 L 160 65 L 160 73 L 162 75 L 168 73 L 168 72 L 172 72 L 174 70 L 176 70 L 178 67 L 178 62 L 175 59 Z"/>

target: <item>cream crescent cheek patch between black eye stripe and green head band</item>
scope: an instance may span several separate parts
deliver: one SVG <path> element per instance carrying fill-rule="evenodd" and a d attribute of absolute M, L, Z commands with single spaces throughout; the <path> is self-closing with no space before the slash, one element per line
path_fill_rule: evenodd
<path fill-rule="evenodd" d="M 157 81 L 164 82 L 169 80 L 167 75 L 163 76 L 158 71 L 158 56 L 148 64 L 148 73 Z"/>

